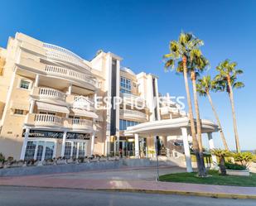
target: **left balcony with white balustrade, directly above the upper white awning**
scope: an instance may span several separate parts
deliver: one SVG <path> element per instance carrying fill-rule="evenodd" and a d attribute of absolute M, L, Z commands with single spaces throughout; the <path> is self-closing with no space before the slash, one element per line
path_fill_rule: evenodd
<path fill-rule="evenodd" d="M 39 96 L 41 99 L 53 99 L 65 102 L 65 93 L 60 92 L 57 89 L 35 87 L 32 90 L 32 95 Z"/>

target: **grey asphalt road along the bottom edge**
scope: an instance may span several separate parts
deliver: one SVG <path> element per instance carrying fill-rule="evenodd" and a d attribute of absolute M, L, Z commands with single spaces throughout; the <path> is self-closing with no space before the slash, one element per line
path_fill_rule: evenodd
<path fill-rule="evenodd" d="M 253 199 L 213 199 L 166 194 L 138 194 L 80 189 L 39 189 L 0 186 L 1 206 L 249 206 Z"/>

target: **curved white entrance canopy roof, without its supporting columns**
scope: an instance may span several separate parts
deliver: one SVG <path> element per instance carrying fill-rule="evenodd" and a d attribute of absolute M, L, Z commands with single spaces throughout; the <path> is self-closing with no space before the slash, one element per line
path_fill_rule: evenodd
<path fill-rule="evenodd" d="M 196 125 L 196 120 L 195 120 Z M 133 127 L 128 127 L 124 132 L 125 136 L 138 134 L 141 136 L 181 136 L 181 128 L 186 128 L 188 134 L 191 134 L 191 123 L 188 117 L 158 120 L 145 122 Z M 201 119 L 202 133 L 218 132 L 219 128 L 214 122 Z"/>

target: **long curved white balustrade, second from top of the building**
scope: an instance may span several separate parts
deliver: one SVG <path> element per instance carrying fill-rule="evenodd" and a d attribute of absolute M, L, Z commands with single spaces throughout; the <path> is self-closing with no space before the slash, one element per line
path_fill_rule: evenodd
<path fill-rule="evenodd" d="M 86 74 L 77 72 L 72 69 L 67 69 L 59 66 L 46 65 L 45 71 L 47 74 L 56 75 L 56 76 L 60 76 L 68 79 L 80 80 L 87 84 L 91 84 L 94 87 L 97 86 L 97 82 L 94 79 L 90 79 Z"/>

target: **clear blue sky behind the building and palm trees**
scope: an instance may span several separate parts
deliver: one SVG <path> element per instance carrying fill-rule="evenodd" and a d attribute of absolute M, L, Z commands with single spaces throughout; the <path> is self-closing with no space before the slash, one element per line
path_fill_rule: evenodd
<path fill-rule="evenodd" d="M 185 95 L 183 79 L 165 73 L 162 55 L 181 31 L 205 41 L 203 52 L 215 66 L 229 58 L 244 69 L 244 89 L 234 92 L 242 149 L 256 149 L 256 2 L 255 1 L 1 1 L 0 46 L 20 31 L 86 60 L 99 49 L 123 57 L 122 65 L 160 78 L 161 93 Z M 213 94 L 229 145 L 234 149 L 231 109 L 226 93 Z M 201 117 L 214 120 L 206 98 Z M 219 134 L 215 145 L 221 146 Z M 206 146 L 205 142 L 205 146 Z"/>

